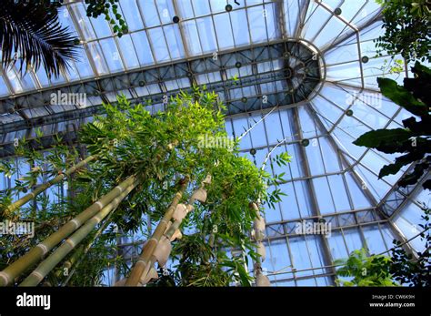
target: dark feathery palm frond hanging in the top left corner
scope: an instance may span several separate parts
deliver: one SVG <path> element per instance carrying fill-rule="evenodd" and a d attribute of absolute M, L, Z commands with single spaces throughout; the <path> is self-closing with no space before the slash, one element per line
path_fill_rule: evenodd
<path fill-rule="evenodd" d="M 54 6 L 38 1 L 2 0 L 0 2 L 0 45 L 4 69 L 15 66 L 23 76 L 33 67 L 44 66 L 48 77 L 67 71 L 77 59 L 77 39 L 62 27 Z M 17 58 L 16 58 L 17 57 Z"/>

